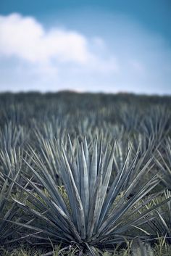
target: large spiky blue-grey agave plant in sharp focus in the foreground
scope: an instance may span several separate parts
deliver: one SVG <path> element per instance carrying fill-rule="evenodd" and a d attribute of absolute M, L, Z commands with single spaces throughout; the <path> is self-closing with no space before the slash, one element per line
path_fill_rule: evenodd
<path fill-rule="evenodd" d="M 109 188 L 115 144 L 112 150 L 109 150 L 110 147 L 102 146 L 102 140 L 100 146 L 95 140 L 91 152 L 86 139 L 83 143 L 77 142 L 76 150 L 73 149 L 70 138 L 69 144 L 72 154 L 67 154 L 64 146 L 58 145 L 60 175 L 67 197 L 62 197 L 56 181 L 47 168 L 41 169 L 39 162 L 37 167 L 33 168 L 25 161 L 33 176 L 46 190 L 40 189 L 40 186 L 23 176 L 33 190 L 28 191 L 26 186 L 18 184 L 21 191 L 25 192 L 25 198 L 14 199 L 14 202 L 27 213 L 27 218 L 17 222 L 17 225 L 27 228 L 34 241 L 41 240 L 43 244 L 74 242 L 80 247 L 87 247 L 91 255 L 94 255 L 95 247 L 120 244 L 125 242 L 125 239 L 133 239 L 133 234 L 138 234 L 141 238 L 144 233 L 149 235 L 148 223 L 154 219 L 151 212 L 157 206 L 148 210 L 141 209 L 144 209 L 155 196 L 143 201 L 141 199 L 159 183 L 159 178 L 154 176 L 146 183 L 141 183 L 136 194 L 133 197 L 129 196 L 151 160 L 125 189 L 124 185 L 134 172 L 138 159 L 137 152 L 130 165 L 127 165 L 129 149 L 122 169 Z M 38 235 L 35 235 L 36 232 Z"/>

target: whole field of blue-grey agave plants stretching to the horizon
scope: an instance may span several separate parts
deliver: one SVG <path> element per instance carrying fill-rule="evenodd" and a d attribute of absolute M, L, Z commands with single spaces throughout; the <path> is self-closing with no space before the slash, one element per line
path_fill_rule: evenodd
<path fill-rule="evenodd" d="M 170 96 L 0 107 L 0 255 L 171 255 Z"/>

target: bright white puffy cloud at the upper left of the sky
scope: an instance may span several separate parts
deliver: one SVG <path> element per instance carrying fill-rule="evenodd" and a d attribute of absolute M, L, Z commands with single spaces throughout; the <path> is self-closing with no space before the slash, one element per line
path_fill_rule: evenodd
<path fill-rule="evenodd" d="M 86 63 L 91 59 L 88 40 L 75 31 L 45 30 L 33 17 L 0 16 L 0 54 L 29 62 Z"/>

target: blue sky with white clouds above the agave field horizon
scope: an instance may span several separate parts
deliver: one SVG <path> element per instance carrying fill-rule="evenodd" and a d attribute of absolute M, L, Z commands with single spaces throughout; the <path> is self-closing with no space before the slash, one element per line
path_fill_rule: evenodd
<path fill-rule="evenodd" d="M 171 94 L 170 0 L 1 0 L 0 91 Z"/>

